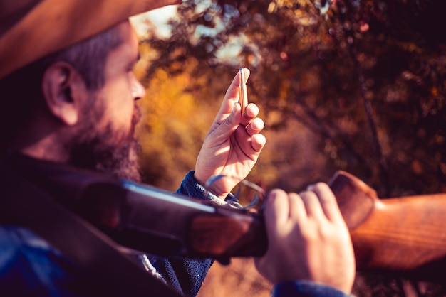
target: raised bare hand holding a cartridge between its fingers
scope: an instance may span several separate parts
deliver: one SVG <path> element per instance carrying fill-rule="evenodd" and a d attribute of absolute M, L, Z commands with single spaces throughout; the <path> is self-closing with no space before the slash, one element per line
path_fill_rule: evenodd
<path fill-rule="evenodd" d="M 244 69 L 245 77 L 249 70 Z M 266 143 L 260 134 L 264 122 L 257 117 L 259 108 L 248 104 L 242 114 L 239 100 L 239 74 L 234 77 L 224 96 L 222 106 L 212 123 L 209 133 L 199 152 L 195 165 L 195 178 L 204 185 L 212 175 L 232 175 L 246 178 Z M 222 179 L 211 185 L 209 190 L 224 199 L 234 188 L 232 178 Z"/>

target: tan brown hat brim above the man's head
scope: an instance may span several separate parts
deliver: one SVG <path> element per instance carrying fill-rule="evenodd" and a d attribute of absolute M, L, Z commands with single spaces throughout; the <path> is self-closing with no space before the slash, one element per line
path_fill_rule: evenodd
<path fill-rule="evenodd" d="M 180 0 L 0 0 L 0 79 L 124 21 Z"/>

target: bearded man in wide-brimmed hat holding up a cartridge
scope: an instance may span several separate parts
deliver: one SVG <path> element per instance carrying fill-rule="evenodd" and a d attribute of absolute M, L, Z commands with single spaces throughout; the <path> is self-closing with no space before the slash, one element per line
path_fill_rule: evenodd
<path fill-rule="evenodd" d="M 133 65 L 139 59 L 138 39 L 128 17 L 173 2 L 0 1 L 0 94 L 3 99 L 0 117 L 2 296 L 197 294 L 212 264 L 211 259 L 166 259 L 140 254 L 140 266 L 150 272 L 142 276 L 142 269 L 138 267 L 135 270 L 127 259 L 121 257 L 119 251 L 104 249 L 104 257 L 98 254 L 90 257 L 88 252 L 81 251 L 81 258 L 105 259 L 98 266 L 103 266 L 104 262 L 119 263 L 111 266 L 105 263 L 105 269 L 95 274 L 95 266 L 93 271 L 88 271 L 67 257 L 65 251 L 54 247 L 51 232 L 48 232 L 48 237 L 43 237 L 36 231 L 55 229 L 59 232 L 58 237 L 62 232 L 62 241 L 73 244 L 85 241 L 85 247 L 81 249 L 90 249 L 88 244 L 91 234 L 87 233 L 84 237 L 81 232 L 82 235 L 77 237 L 78 229 L 71 228 L 69 223 L 65 224 L 68 221 L 64 220 L 64 216 L 71 217 L 72 214 L 48 202 L 60 198 L 54 194 L 53 187 L 42 182 L 48 174 L 48 168 L 68 166 L 140 181 L 138 143 L 135 140 L 135 124 L 140 115 L 135 102 L 145 97 L 145 89 L 133 74 Z M 244 73 L 249 75 L 248 70 L 244 70 Z M 187 173 L 178 193 L 225 204 L 227 201 L 224 200 L 235 181 L 212 185 L 209 189 L 212 194 L 204 191 L 202 184 L 216 174 L 245 178 L 256 163 L 265 144 L 265 138 L 260 134 L 264 124 L 257 118 L 259 109 L 255 104 L 249 104 L 246 112 L 241 112 L 237 103 L 238 87 L 237 75 L 204 139 L 195 171 Z M 319 188 L 317 186 L 316 194 L 312 192 L 312 195 L 316 195 L 321 203 L 330 200 L 329 205 L 336 205 L 329 190 Z M 286 210 L 284 207 L 288 207 L 288 199 L 294 201 L 296 195 L 275 192 L 273 196 L 279 199 L 271 198 L 266 220 L 269 234 L 276 234 L 280 240 L 271 240 L 269 253 L 259 262 L 261 273 L 274 279 L 274 283 L 293 281 L 297 276 L 306 278 L 306 274 L 299 274 L 300 265 L 292 266 L 286 275 L 279 273 L 283 271 L 280 265 L 274 266 L 276 262 L 289 262 L 290 257 L 296 259 L 296 263 L 304 260 L 294 256 L 294 249 L 289 249 L 296 246 L 296 242 L 302 242 L 301 236 L 284 236 L 283 232 L 279 232 L 280 225 L 274 225 L 279 222 L 275 217 L 277 213 L 283 215 Z M 274 203 L 280 199 L 285 200 L 279 205 Z M 20 204 L 20 201 L 26 202 Z M 316 205 L 319 203 L 317 201 Z M 41 211 L 41 203 L 48 207 L 46 212 Z M 22 225 L 28 215 L 34 221 Z M 299 212 L 299 215 L 302 214 Z M 341 252 L 346 257 L 337 255 L 336 259 L 340 260 L 333 261 L 333 265 L 351 264 L 351 243 L 345 236 L 346 227 L 342 225 L 338 212 L 335 217 L 338 227 L 332 234 L 339 232 L 344 235 L 342 238 L 346 242 L 347 252 Z M 41 222 L 47 221 L 43 229 L 38 229 L 42 226 Z M 32 222 L 38 223 L 40 227 L 35 228 Z M 294 226 L 295 222 L 291 220 L 286 224 Z M 93 237 L 95 244 L 105 242 L 107 246 L 108 239 L 104 239 L 103 234 L 93 234 Z M 57 244 L 61 240 L 56 240 Z M 312 243 L 318 246 L 318 242 L 313 240 Z M 95 249 L 93 245 L 91 249 Z M 282 246 L 286 252 L 280 249 Z M 333 246 L 338 247 L 336 251 L 339 250 L 338 242 Z M 323 252 L 327 250 L 323 249 Z M 304 252 L 301 255 L 306 259 Z M 309 271 L 306 266 L 303 267 Z M 298 271 L 294 273 L 294 269 Z M 128 277 L 120 281 L 120 276 L 123 279 Z M 343 276 L 336 274 L 338 279 Z M 321 280 L 329 285 L 333 283 L 331 278 L 332 275 L 327 281 L 308 276 L 308 279 Z M 346 288 L 348 291 L 350 281 L 351 277 L 347 277 L 346 281 L 333 284 L 336 284 L 336 288 Z M 121 284 L 124 282 L 128 284 Z"/>

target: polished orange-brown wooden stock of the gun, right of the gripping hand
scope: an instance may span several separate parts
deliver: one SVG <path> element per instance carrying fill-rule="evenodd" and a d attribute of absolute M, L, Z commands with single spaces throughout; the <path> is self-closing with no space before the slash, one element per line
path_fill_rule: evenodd
<path fill-rule="evenodd" d="M 350 229 L 359 271 L 445 281 L 446 194 L 380 200 L 343 171 L 329 185 Z"/>

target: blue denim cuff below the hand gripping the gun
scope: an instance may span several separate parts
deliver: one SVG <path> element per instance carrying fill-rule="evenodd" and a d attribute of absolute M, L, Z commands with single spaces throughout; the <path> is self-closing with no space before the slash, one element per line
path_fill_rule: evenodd
<path fill-rule="evenodd" d="M 353 297 L 353 295 L 313 281 L 286 281 L 274 286 L 272 297 Z"/>

